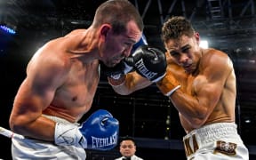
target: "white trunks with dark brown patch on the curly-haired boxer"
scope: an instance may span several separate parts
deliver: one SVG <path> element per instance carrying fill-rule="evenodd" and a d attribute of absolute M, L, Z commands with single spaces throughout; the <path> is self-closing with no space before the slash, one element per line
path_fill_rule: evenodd
<path fill-rule="evenodd" d="M 235 123 L 207 124 L 183 138 L 188 160 L 248 160 L 249 152 Z"/>

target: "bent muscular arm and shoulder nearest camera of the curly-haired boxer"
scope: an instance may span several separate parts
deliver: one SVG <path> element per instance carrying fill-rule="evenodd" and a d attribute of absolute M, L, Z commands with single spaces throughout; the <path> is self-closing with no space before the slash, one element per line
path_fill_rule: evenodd
<path fill-rule="evenodd" d="M 232 75 L 232 62 L 222 53 L 214 54 L 211 59 L 204 59 L 199 69 L 201 70 L 199 75 L 192 77 L 194 80 L 192 80 L 191 90 L 183 88 L 174 92 L 170 97 L 172 104 L 180 112 L 181 123 L 183 126 L 188 124 L 185 128 L 202 126 L 212 114 L 213 109 L 224 105 L 220 97 L 223 96 L 224 87 L 227 87 L 225 85 L 228 76 L 235 76 Z M 189 78 L 191 77 L 188 76 L 188 82 L 191 81 Z M 232 81 L 235 81 L 235 78 Z M 231 92 L 234 93 L 236 90 Z M 223 113 L 224 110 L 220 112 Z"/>

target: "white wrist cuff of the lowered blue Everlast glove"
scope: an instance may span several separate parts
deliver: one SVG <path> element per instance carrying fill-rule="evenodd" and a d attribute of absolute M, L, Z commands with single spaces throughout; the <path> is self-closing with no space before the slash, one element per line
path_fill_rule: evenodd
<path fill-rule="evenodd" d="M 56 123 L 54 133 L 55 144 L 59 146 L 76 146 L 87 148 L 87 140 L 75 124 Z"/>

